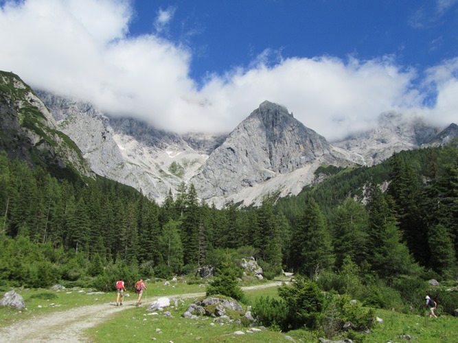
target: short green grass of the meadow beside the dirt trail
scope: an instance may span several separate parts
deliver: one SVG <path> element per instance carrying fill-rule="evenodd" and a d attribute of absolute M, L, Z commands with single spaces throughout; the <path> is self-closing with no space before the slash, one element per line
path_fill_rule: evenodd
<path fill-rule="evenodd" d="M 205 293 L 205 287 L 200 283 L 189 284 L 179 280 L 165 286 L 164 281 L 147 282 L 148 290 L 144 294 L 144 304 L 159 296 L 174 296 L 178 294 Z M 86 289 L 87 291 L 87 289 Z M 49 289 L 23 289 L 16 291 L 23 296 L 27 309 L 17 311 L 8 307 L 0 307 L 0 327 L 8 326 L 17 320 L 33 318 L 51 311 L 65 311 L 73 307 L 95 305 L 98 303 L 115 303 L 115 292 L 105 294 L 79 293 L 78 290 L 65 289 L 61 292 Z M 150 315 L 146 312 L 146 305 L 134 307 L 135 294 L 128 292 L 125 298 L 126 309 L 110 317 L 110 320 L 86 331 L 89 340 L 93 342 L 146 342 L 155 338 L 158 342 L 281 342 L 286 341 L 288 335 L 301 342 L 317 342 L 324 337 L 319 331 L 305 329 L 282 333 L 271 329 L 262 329 L 260 332 L 249 333 L 249 327 L 235 322 L 214 322 L 214 318 L 201 316 L 198 319 L 182 318 L 187 306 L 194 299 L 185 299 L 179 302 L 178 307 L 172 306 L 172 318 L 165 317 L 163 312 Z M 242 307 L 253 304 L 257 298 L 269 296 L 276 298 L 277 287 L 251 289 L 245 292 L 246 298 Z M 3 294 L 1 294 L 3 296 Z M 51 304 L 54 304 L 51 306 Z M 395 311 L 376 310 L 376 316 L 383 320 L 376 323 L 371 333 L 343 333 L 334 340 L 352 338 L 354 342 L 407 342 L 400 338 L 409 335 L 413 342 L 458 342 L 458 318 L 453 316 L 439 316 L 428 318 L 400 314 Z M 244 335 L 235 335 L 236 331 L 244 331 Z"/>

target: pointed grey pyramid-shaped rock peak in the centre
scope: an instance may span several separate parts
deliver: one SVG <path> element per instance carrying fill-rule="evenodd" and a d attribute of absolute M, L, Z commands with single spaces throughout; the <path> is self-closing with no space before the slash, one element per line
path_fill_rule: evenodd
<path fill-rule="evenodd" d="M 210 154 L 190 182 L 204 199 L 219 199 L 222 203 L 248 198 L 244 204 L 249 205 L 264 193 L 256 189 L 265 190 L 271 184 L 275 185 L 271 191 L 280 196 L 288 195 L 293 183 L 300 191 L 322 164 L 350 163 L 334 154 L 324 137 L 306 128 L 286 108 L 265 101 Z M 279 180 L 284 180 L 283 185 Z"/>

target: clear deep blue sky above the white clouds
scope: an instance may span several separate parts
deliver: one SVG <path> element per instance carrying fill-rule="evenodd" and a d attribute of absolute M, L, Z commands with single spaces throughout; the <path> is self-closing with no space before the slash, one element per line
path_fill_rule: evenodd
<path fill-rule="evenodd" d="M 405 67 L 425 69 L 458 56 L 457 1 L 251 0 L 136 1 L 131 34 L 146 32 L 188 45 L 190 73 L 249 67 L 266 49 L 282 58 L 393 55 Z M 157 12 L 168 13 L 163 30 Z"/>

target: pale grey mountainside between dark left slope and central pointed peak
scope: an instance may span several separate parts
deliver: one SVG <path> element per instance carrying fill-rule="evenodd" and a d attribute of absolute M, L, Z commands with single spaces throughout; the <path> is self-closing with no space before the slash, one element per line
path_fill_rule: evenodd
<path fill-rule="evenodd" d="M 195 174 L 221 140 L 194 135 L 185 141 L 141 121 L 109 118 L 85 102 L 45 92 L 38 95 L 96 173 L 135 187 L 159 203 L 170 189 L 174 192 Z"/>

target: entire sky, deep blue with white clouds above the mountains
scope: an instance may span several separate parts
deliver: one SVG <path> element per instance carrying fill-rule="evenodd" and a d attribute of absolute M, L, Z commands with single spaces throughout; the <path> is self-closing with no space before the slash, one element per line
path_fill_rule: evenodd
<path fill-rule="evenodd" d="M 458 123 L 458 0 L 0 0 L 0 70 L 174 132 L 268 100 L 329 141 Z"/>

